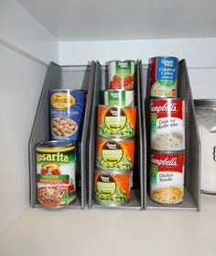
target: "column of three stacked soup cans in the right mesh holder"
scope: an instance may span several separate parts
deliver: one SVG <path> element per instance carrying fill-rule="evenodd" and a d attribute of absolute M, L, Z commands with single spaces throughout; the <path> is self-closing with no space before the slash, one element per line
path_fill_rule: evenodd
<path fill-rule="evenodd" d="M 177 98 L 178 59 L 150 60 L 150 197 L 178 204 L 184 196 L 185 103 Z"/>

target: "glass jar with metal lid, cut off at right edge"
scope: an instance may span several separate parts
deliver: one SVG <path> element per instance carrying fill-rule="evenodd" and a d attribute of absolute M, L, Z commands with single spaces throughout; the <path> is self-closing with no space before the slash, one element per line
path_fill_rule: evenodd
<path fill-rule="evenodd" d="M 200 188 L 216 194 L 216 99 L 194 100 L 201 143 Z"/>

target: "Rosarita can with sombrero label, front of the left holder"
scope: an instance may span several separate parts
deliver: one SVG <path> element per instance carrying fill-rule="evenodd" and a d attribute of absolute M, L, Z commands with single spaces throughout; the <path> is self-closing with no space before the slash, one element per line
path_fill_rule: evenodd
<path fill-rule="evenodd" d="M 74 143 L 40 142 L 36 152 L 38 202 L 49 207 L 69 205 L 76 198 Z"/>

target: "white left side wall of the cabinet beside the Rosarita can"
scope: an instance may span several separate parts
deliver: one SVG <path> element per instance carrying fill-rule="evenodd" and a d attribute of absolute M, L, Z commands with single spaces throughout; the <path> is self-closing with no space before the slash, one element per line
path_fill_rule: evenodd
<path fill-rule="evenodd" d="M 47 67 L 0 45 L 0 234 L 29 206 L 27 143 Z"/>

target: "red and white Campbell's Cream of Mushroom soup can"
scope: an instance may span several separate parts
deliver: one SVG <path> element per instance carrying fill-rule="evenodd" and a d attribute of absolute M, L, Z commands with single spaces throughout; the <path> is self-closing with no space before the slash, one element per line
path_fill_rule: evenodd
<path fill-rule="evenodd" d="M 185 149 L 184 100 L 150 100 L 150 123 L 152 150 Z"/>

